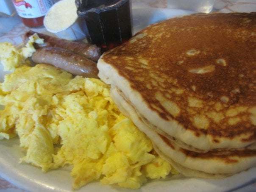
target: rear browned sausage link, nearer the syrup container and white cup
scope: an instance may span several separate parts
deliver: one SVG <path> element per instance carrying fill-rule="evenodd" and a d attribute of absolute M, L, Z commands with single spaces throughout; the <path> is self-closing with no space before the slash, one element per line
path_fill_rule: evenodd
<path fill-rule="evenodd" d="M 33 35 L 34 31 L 28 31 L 24 35 L 24 43 L 28 42 L 28 37 Z M 91 59 L 92 61 L 97 61 L 100 58 L 100 48 L 97 47 L 97 45 L 90 45 L 86 43 L 81 42 L 72 42 L 67 41 L 64 39 L 59 39 L 57 37 L 45 35 L 42 33 L 37 33 L 38 36 L 42 39 L 44 39 L 44 44 L 34 44 L 34 47 L 37 49 L 39 47 L 61 47 L 63 49 L 67 49 L 70 51 L 73 51 L 75 53 L 78 53 L 82 56 L 85 56 L 86 58 Z"/>

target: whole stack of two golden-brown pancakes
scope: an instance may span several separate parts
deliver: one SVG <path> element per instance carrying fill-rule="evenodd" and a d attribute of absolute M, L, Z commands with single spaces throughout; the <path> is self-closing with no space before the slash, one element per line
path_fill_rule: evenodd
<path fill-rule="evenodd" d="M 186 176 L 256 166 L 256 13 L 193 14 L 145 28 L 104 53 L 118 108 Z"/>

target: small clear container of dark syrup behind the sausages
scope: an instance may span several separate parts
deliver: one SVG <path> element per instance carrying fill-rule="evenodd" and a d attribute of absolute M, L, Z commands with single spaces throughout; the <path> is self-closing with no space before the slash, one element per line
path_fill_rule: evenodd
<path fill-rule="evenodd" d="M 121 45 L 132 36 L 130 0 L 76 0 L 78 15 L 86 22 L 89 43 L 102 52 Z"/>

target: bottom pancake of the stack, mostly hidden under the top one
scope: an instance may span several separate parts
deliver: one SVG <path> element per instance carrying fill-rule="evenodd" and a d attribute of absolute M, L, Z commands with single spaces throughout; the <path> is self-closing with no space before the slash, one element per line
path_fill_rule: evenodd
<path fill-rule="evenodd" d="M 111 87 L 111 97 L 120 111 L 147 134 L 156 152 L 185 176 L 224 178 L 256 165 L 255 146 L 235 150 L 209 150 L 206 153 L 186 150 L 150 128 L 152 125 L 136 112 L 134 106 L 125 100 L 122 92 L 116 87 Z"/>

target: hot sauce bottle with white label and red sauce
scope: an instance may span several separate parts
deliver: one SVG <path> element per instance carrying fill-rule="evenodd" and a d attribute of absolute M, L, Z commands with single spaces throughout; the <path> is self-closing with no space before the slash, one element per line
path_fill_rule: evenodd
<path fill-rule="evenodd" d="M 40 27 L 43 25 L 47 11 L 55 3 L 55 0 L 12 0 L 17 14 L 24 25 L 28 27 Z"/>

